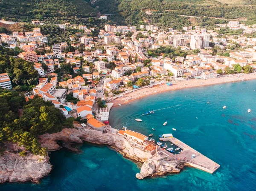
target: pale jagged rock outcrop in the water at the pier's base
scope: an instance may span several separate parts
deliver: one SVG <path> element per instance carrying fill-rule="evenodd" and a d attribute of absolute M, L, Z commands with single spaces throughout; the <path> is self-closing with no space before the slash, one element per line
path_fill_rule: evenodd
<path fill-rule="evenodd" d="M 180 162 L 174 160 L 146 160 L 141 169 L 140 173 L 136 174 L 137 179 L 144 179 L 145 177 L 151 177 L 154 175 L 163 175 L 166 173 L 178 173 L 183 165 Z"/>

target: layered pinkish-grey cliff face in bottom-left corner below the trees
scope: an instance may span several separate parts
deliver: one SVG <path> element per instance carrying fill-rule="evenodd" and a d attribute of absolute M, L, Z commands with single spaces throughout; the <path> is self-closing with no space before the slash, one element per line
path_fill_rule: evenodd
<path fill-rule="evenodd" d="M 38 182 L 52 170 L 49 157 L 27 153 L 20 157 L 17 145 L 7 143 L 7 149 L 0 156 L 0 183 L 3 182 Z"/>

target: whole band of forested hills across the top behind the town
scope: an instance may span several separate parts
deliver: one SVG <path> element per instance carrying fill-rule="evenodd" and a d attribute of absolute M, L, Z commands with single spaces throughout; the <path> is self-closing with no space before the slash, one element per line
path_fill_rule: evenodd
<path fill-rule="evenodd" d="M 81 18 L 117 13 L 110 19 L 118 25 L 138 26 L 148 20 L 162 29 L 180 29 L 191 23 L 209 28 L 228 22 L 219 18 L 251 25 L 256 23 L 255 10 L 256 0 L 0 0 L 0 17 L 6 20 L 79 24 L 84 23 Z"/>

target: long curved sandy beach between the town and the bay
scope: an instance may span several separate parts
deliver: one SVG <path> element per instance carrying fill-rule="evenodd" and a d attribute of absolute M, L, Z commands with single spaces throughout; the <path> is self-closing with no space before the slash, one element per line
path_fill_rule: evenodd
<path fill-rule="evenodd" d="M 194 88 L 199 86 L 212 86 L 215 84 L 220 83 L 233 83 L 238 81 L 247 81 L 247 80 L 254 80 L 256 79 L 256 73 L 251 74 L 233 74 L 226 77 L 218 77 L 213 79 L 193 79 L 193 80 L 183 80 L 183 81 L 177 81 L 173 83 L 173 86 L 167 86 L 166 83 L 161 84 L 160 86 L 155 86 L 153 88 L 143 88 L 138 89 L 136 91 L 133 91 L 131 93 L 125 94 L 122 97 L 118 97 L 114 100 L 111 100 L 112 103 L 114 103 L 113 107 L 129 103 L 131 101 L 146 97 L 148 95 L 152 94 L 159 94 L 164 91 L 171 91 L 171 90 L 177 90 L 177 89 L 183 89 L 183 88 Z"/>

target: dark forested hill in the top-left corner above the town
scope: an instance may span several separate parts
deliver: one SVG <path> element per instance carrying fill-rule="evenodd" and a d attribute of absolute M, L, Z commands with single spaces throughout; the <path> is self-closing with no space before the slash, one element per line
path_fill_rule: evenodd
<path fill-rule="evenodd" d="M 85 0 L 0 0 L 0 17 L 23 21 L 47 17 L 90 17 L 99 11 Z"/>

